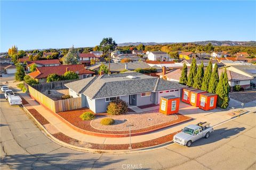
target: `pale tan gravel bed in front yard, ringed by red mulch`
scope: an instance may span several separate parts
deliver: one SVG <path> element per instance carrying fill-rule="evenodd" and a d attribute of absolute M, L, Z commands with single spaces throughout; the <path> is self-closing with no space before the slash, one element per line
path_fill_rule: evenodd
<path fill-rule="evenodd" d="M 107 115 L 108 118 L 113 118 L 115 123 L 112 125 L 102 125 L 100 121 L 102 118 L 98 117 L 91 121 L 91 126 L 98 130 L 108 131 L 123 131 L 127 130 L 127 125 L 132 124 L 132 129 L 142 129 L 150 126 L 172 122 L 178 119 L 176 114 L 164 115 L 159 112 L 146 112 L 146 113 L 129 113 L 125 115 Z"/>

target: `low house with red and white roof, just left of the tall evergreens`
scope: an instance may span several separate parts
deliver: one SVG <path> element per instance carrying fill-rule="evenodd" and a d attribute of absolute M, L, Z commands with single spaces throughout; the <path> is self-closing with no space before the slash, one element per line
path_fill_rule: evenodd
<path fill-rule="evenodd" d="M 179 69 L 183 67 L 183 63 L 175 63 L 173 61 L 169 62 L 158 62 L 158 61 L 146 61 L 148 65 L 151 67 L 158 66 L 158 67 L 168 67 L 169 69 Z M 187 64 L 188 67 L 190 67 L 190 64 Z"/>

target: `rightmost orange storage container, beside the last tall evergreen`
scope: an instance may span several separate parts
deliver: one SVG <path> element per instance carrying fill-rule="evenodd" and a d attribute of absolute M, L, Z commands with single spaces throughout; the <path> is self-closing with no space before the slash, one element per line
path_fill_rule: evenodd
<path fill-rule="evenodd" d="M 204 111 L 209 111 L 211 109 L 216 108 L 217 106 L 217 95 L 207 93 L 200 95 L 200 104 L 199 108 L 203 109 Z"/>

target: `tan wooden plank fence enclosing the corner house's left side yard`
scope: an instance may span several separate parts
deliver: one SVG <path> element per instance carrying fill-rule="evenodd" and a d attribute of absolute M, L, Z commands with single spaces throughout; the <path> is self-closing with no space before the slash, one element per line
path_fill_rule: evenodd
<path fill-rule="evenodd" d="M 45 87 L 49 86 L 43 86 Z M 31 97 L 55 113 L 82 108 L 82 97 L 54 101 L 31 86 L 28 86 L 28 91 Z"/>

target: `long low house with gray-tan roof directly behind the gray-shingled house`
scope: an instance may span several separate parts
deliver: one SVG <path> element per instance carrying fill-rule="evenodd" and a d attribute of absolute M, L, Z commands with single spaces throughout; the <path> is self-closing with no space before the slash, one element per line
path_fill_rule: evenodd
<path fill-rule="evenodd" d="M 90 70 L 95 70 L 95 71 L 99 71 L 99 67 L 101 64 L 94 64 L 91 65 L 89 67 L 87 67 L 87 69 Z M 108 63 L 105 64 L 108 68 Z M 111 73 L 119 73 L 123 70 L 130 70 L 133 71 L 135 69 L 146 69 L 146 68 L 150 68 L 151 66 L 145 62 L 138 62 L 138 63 L 110 63 L 110 72 Z M 162 67 L 158 67 L 158 66 L 152 66 L 153 68 L 155 68 L 157 70 L 157 72 L 161 72 L 162 71 Z"/>

